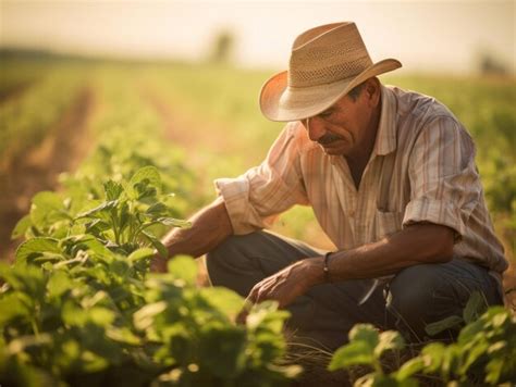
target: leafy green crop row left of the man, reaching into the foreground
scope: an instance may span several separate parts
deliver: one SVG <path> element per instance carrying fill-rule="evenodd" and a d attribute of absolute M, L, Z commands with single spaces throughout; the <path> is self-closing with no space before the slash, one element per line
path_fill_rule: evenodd
<path fill-rule="evenodd" d="M 36 195 L 14 230 L 27 240 L 0 267 L 0 384 L 281 384 L 296 371 L 279 363 L 285 312 L 266 304 L 236 325 L 242 298 L 197 288 L 192 259 L 148 273 L 160 234 L 187 226 L 179 217 L 195 189 L 124 76 L 97 73 L 95 150 L 62 191 Z"/>

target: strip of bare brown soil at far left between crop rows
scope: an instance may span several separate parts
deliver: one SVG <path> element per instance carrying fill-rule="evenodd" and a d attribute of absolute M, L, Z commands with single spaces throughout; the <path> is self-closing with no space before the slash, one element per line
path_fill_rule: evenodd
<path fill-rule="evenodd" d="M 91 90 L 84 89 L 70 110 L 37 148 L 28 150 L 0 170 L 0 259 L 13 259 L 20 240 L 11 240 L 15 224 L 30 208 L 32 197 L 56 190 L 58 176 L 74 171 L 88 150 L 87 123 L 95 104 Z"/>

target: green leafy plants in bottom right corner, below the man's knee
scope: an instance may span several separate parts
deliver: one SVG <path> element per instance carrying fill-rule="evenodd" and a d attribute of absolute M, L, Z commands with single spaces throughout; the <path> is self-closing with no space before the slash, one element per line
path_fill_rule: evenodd
<path fill-rule="evenodd" d="M 456 342 L 430 342 L 391 373 L 384 371 L 382 354 L 386 350 L 404 350 L 403 337 L 392 330 L 379 333 L 367 324 L 351 330 L 349 344 L 334 353 L 329 370 L 354 365 L 372 370 L 355 386 L 417 386 L 416 376 L 439 378 L 447 386 L 508 386 L 516 380 L 516 316 L 503 307 L 486 310 L 481 299 L 474 292 L 462 317 L 445 319 L 428 327 L 428 332 L 437 334 L 466 323 Z"/>

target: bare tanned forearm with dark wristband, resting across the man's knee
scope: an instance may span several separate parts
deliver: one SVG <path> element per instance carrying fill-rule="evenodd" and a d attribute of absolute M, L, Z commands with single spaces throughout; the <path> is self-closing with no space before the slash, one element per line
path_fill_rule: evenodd
<path fill-rule="evenodd" d="M 434 224 L 413 225 L 377 242 L 331 254 L 332 282 L 374 278 L 396 274 L 402 269 L 446 262 L 453 254 L 453 230 Z M 323 259 L 311 262 L 316 284 L 324 282 Z"/>

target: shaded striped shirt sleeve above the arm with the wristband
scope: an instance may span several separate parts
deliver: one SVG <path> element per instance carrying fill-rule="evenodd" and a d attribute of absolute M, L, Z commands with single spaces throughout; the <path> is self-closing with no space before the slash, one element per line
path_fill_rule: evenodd
<path fill-rule="evenodd" d="M 408 171 L 410 201 L 403 225 L 444 225 L 455 230 L 459 241 L 482 195 L 468 133 L 452 117 L 434 118 L 417 137 Z"/>

